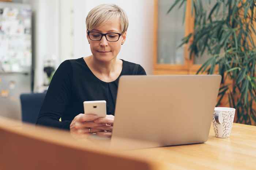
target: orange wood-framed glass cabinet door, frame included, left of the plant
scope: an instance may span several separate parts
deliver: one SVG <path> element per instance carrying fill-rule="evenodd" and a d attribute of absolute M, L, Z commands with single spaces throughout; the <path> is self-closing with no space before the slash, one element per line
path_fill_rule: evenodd
<path fill-rule="evenodd" d="M 184 5 L 180 9 L 177 5 L 167 14 L 175 1 L 155 0 L 154 74 L 195 74 L 210 57 L 205 52 L 202 57 L 190 59 L 189 44 L 178 48 L 181 40 L 193 32 L 194 17 L 191 0 L 187 0 L 184 23 Z"/>

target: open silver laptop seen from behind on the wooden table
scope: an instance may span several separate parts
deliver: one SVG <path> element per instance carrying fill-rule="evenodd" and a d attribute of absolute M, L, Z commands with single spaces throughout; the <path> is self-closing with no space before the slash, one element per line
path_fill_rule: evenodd
<path fill-rule="evenodd" d="M 121 76 L 111 140 L 206 142 L 220 82 L 220 75 Z"/>

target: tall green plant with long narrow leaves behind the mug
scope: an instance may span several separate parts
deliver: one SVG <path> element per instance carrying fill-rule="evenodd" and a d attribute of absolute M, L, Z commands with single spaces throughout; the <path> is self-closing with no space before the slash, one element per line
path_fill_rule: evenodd
<path fill-rule="evenodd" d="M 211 56 L 197 74 L 222 75 L 217 106 L 228 95 L 229 106 L 236 108 L 238 123 L 255 124 L 256 0 L 191 0 L 194 32 L 182 39 L 189 43 L 190 57 Z M 173 7 L 184 8 L 187 0 L 176 0 Z M 231 80 L 232 83 L 227 83 Z"/>

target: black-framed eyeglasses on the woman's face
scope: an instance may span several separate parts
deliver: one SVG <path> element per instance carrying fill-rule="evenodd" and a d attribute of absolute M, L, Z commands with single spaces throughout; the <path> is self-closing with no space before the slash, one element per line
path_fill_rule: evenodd
<path fill-rule="evenodd" d="M 99 41 L 102 39 L 102 36 L 106 37 L 107 41 L 115 42 L 118 41 L 121 33 L 116 32 L 109 32 L 109 33 L 100 33 L 100 32 L 94 32 L 94 31 L 87 31 L 87 34 L 92 41 Z"/>

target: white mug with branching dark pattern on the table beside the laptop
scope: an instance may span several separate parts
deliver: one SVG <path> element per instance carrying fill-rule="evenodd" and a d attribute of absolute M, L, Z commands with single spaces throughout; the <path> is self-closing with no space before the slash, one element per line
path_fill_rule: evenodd
<path fill-rule="evenodd" d="M 212 119 L 215 137 L 228 138 L 231 133 L 236 109 L 231 107 L 215 107 Z"/>

